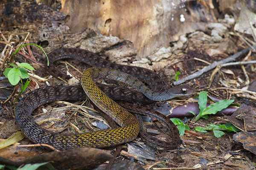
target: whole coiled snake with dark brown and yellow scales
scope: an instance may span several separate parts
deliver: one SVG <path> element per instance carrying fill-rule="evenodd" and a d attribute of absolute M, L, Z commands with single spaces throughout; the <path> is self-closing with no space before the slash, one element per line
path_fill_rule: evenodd
<path fill-rule="evenodd" d="M 143 95 L 149 98 L 146 102 L 172 99 L 177 96 L 190 95 L 194 92 L 188 85 L 180 85 L 166 89 L 162 79 L 158 74 L 151 70 L 109 62 L 97 54 L 79 48 L 57 49 L 49 53 L 48 57 L 50 61 L 48 71 L 56 77 L 64 76 L 69 78 L 63 74 L 62 71 L 52 69 L 52 63 L 58 59 L 79 59 L 92 66 L 91 68 L 86 69 L 82 74 L 81 86 L 46 86 L 38 88 L 24 95 L 17 105 L 15 117 L 23 133 L 34 143 L 49 144 L 60 150 L 72 147 L 102 148 L 116 146 L 134 140 L 140 132 L 142 133 L 142 136 L 148 139 L 148 141 L 161 143 L 160 141 L 155 142 L 155 138 L 150 138 L 145 135 L 141 126 L 140 117 L 134 116 L 127 111 L 127 109 L 120 106 L 109 97 L 109 95 L 116 97 L 113 91 L 110 90 L 110 86 L 103 85 L 99 88 L 95 82 L 96 80 L 108 78 L 125 82 L 141 91 Z M 148 86 L 152 88 L 149 88 Z M 116 86 L 113 88 L 116 88 Z M 141 100 L 145 98 L 145 96 L 137 95 L 137 92 L 133 92 L 127 88 L 120 89 L 121 90 L 118 91 L 121 92 L 123 97 L 129 96 L 131 98 L 140 98 L 138 96 L 141 96 Z M 86 95 L 84 95 L 84 92 Z M 94 105 L 96 105 L 96 107 L 110 116 L 120 127 L 89 133 L 61 135 L 45 130 L 31 117 L 31 113 L 36 108 L 46 103 L 57 100 L 84 100 L 87 99 L 87 97 Z M 171 148 L 178 146 L 180 137 L 177 127 L 165 116 L 160 115 L 160 113 L 155 111 L 151 111 L 150 109 L 136 107 L 132 104 L 122 103 L 122 105 L 130 109 L 131 112 L 160 119 L 160 122 L 167 125 L 172 136 L 171 142 L 162 142 L 163 144 L 160 145 Z"/>

